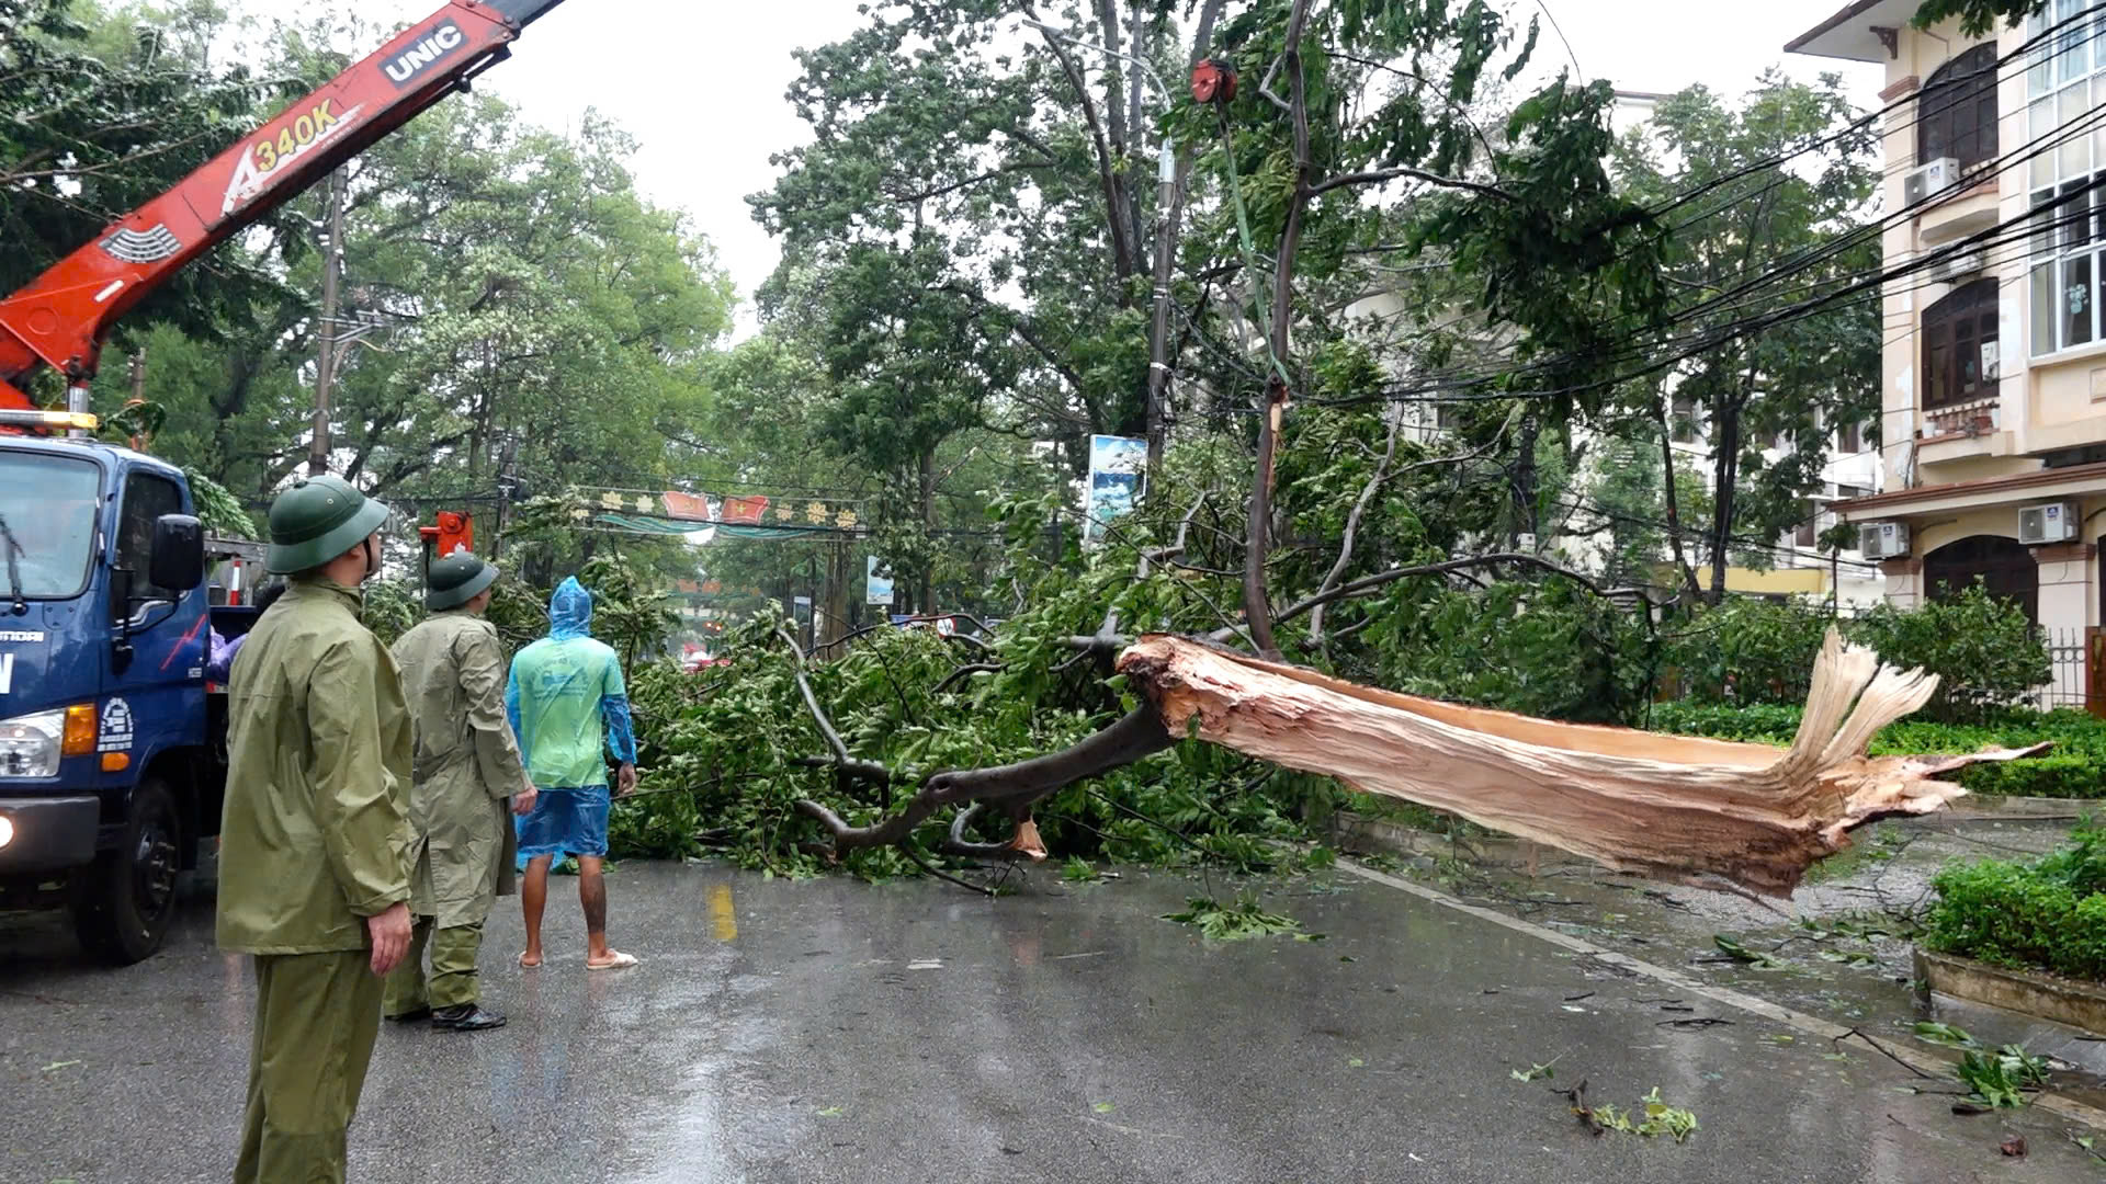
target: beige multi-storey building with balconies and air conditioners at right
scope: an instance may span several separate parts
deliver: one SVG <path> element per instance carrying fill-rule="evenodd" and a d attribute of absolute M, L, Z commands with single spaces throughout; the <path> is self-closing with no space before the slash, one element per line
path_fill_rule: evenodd
<path fill-rule="evenodd" d="M 2106 577 L 2106 4 L 2026 27 L 1910 27 L 1855 0 L 1786 51 L 1879 63 L 1887 270 L 1883 493 L 1839 501 L 1887 598 L 1975 577 L 2058 649 L 2053 704 L 2091 695 Z"/>

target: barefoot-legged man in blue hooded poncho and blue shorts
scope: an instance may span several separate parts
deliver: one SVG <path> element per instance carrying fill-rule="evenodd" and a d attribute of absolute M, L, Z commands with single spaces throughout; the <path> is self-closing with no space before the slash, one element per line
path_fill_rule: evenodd
<path fill-rule="evenodd" d="M 548 866 L 577 855 L 577 900 L 585 908 L 585 969 L 634 967 L 636 959 L 607 944 L 607 756 L 613 748 L 621 794 L 636 788 L 636 733 L 621 659 L 592 640 L 592 592 L 567 577 L 548 603 L 550 634 L 512 659 L 505 714 L 526 756 L 526 777 L 539 790 L 533 813 L 518 820 L 526 883 L 522 967 L 541 965 L 541 910 L 548 906 Z M 604 731 L 602 731 L 604 729 Z"/>

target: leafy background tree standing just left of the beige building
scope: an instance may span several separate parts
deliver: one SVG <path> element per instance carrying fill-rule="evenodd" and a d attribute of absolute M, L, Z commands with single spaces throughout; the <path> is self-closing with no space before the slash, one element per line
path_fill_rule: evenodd
<path fill-rule="evenodd" d="M 1617 145 L 1617 179 L 1634 200 L 1664 209 L 1678 194 L 1702 194 L 1668 215 L 1676 225 L 1664 276 L 1676 291 L 1678 333 L 1718 341 L 1626 386 L 1620 413 L 1634 428 L 1649 421 L 1660 438 L 1676 407 L 1693 409 L 1712 463 L 1702 539 L 1714 605 L 1742 550 L 1735 539 L 1769 544 L 1805 520 L 1836 430 L 1868 426 L 1876 440 L 1876 305 L 1851 301 L 1733 333 L 1879 270 L 1876 236 L 1849 234 L 1879 183 L 1876 143 L 1857 118 L 1841 78 L 1807 86 L 1771 72 L 1737 110 L 1704 86 L 1672 95 Z M 1826 137 L 1836 126 L 1849 131 Z M 1799 152 L 1815 141 L 1817 150 Z M 1759 169 L 1784 156 L 1790 166 Z M 1792 282 L 1754 282 L 1771 259 L 1794 261 Z M 1662 489 L 1678 485 L 1672 449 L 1657 463 Z M 1691 590 L 1693 581 L 1685 565 Z"/>

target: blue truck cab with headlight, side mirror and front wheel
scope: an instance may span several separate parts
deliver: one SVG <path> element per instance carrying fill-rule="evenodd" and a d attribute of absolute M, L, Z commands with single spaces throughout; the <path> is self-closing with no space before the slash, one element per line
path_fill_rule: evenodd
<path fill-rule="evenodd" d="M 91 954 L 135 963 L 225 788 L 190 487 L 128 449 L 0 436 L 0 908 L 65 906 Z"/>

